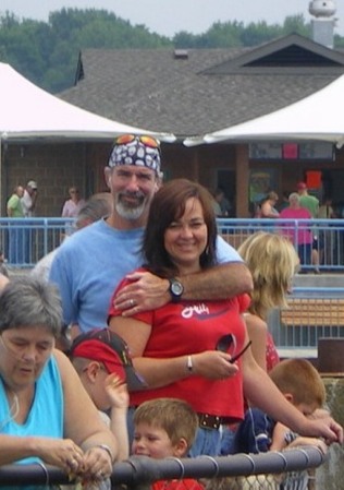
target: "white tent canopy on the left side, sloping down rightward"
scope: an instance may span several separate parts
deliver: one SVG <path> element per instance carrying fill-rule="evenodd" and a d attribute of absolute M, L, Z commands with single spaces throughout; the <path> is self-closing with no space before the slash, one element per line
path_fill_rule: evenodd
<path fill-rule="evenodd" d="M 2 141 L 111 140 L 127 132 L 175 140 L 172 134 L 122 124 L 73 106 L 34 85 L 5 63 L 0 63 L 0 107 Z"/>

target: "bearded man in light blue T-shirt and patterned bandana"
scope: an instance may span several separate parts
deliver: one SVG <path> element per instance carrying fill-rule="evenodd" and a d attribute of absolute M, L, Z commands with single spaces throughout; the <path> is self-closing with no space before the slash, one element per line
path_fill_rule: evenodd
<path fill-rule="evenodd" d="M 113 290 L 124 276 L 135 280 L 121 290 L 115 306 L 124 315 L 185 299 L 220 299 L 251 289 L 251 276 L 237 252 L 218 239 L 220 265 L 204 273 L 175 278 L 174 284 L 142 265 L 142 239 L 148 208 L 162 183 L 159 143 L 150 136 L 122 135 L 105 169 L 113 212 L 66 240 L 52 263 L 49 279 L 60 288 L 64 322 L 77 324 L 73 336 L 108 326 Z"/>

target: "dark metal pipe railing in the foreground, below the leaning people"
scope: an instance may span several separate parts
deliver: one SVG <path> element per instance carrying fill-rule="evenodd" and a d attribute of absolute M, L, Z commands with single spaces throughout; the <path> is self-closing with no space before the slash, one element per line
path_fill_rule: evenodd
<path fill-rule="evenodd" d="M 146 456 L 133 456 L 126 462 L 116 463 L 111 476 L 111 486 L 116 488 L 126 485 L 127 488 L 147 488 L 157 480 L 172 480 L 183 478 L 219 479 L 233 477 L 233 481 L 246 482 L 247 488 L 278 489 L 281 481 L 290 478 L 293 482 L 302 471 L 317 468 L 327 461 L 327 456 L 317 447 L 300 447 L 284 452 L 261 454 L 236 454 L 233 456 L 198 456 L 195 458 L 164 458 L 153 459 Z M 296 471 L 296 474 L 295 474 Z M 281 476 L 283 474 L 283 476 Z M 254 486 L 253 476 L 267 476 L 265 486 Z M 268 476 L 279 475 L 277 479 Z M 247 485 L 248 482 L 248 485 Z M 0 466 L 0 489 L 4 486 L 51 486 L 69 485 L 71 480 L 62 470 L 36 465 L 3 465 Z M 226 488 L 231 488 L 226 486 Z M 283 487 L 286 488 L 286 487 Z M 293 489 L 298 488 L 293 486 Z M 302 488 L 302 487 L 299 487 Z"/>

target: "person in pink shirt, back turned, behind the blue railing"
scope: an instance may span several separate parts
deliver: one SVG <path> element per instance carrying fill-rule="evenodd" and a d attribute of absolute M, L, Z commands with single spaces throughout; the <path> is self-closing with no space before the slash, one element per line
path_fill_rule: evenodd
<path fill-rule="evenodd" d="M 290 205 L 281 211 L 282 219 L 302 219 L 302 223 L 290 223 L 282 227 L 282 232 L 294 243 L 302 265 L 311 263 L 312 232 L 310 229 L 311 214 L 306 207 L 300 206 L 300 198 L 297 192 L 288 196 Z M 305 222 L 305 219 L 307 222 Z"/>

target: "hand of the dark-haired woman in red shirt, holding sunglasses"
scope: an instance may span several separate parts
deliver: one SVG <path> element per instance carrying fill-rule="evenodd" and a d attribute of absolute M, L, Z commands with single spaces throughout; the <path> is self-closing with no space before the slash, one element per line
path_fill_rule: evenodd
<path fill-rule="evenodd" d="M 224 380 L 238 372 L 238 366 L 231 363 L 231 356 L 220 350 L 205 350 L 193 355 L 193 372 L 209 380 Z"/>

